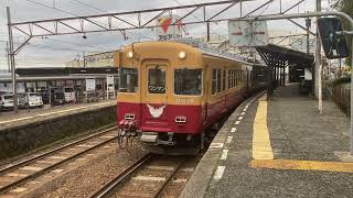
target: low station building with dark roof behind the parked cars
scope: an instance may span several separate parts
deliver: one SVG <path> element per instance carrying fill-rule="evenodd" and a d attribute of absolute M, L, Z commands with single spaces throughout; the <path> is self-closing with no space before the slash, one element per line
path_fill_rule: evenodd
<path fill-rule="evenodd" d="M 76 63 L 76 64 L 75 64 Z M 75 92 L 75 102 L 84 102 L 87 96 L 105 99 L 116 96 L 118 69 L 113 65 L 113 53 L 88 55 L 83 61 L 66 63 L 67 67 L 21 67 L 15 69 L 18 94 L 39 92 L 44 103 L 57 89 L 69 88 Z M 87 79 L 94 79 L 94 89 L 87 90 Z M 108 79 L 109 78 L 109 79 Z M 107 79 L 110 82 L 107 82 Z M 111 80 L 114 80 L 111 82 Z M 92 81 L 92 80 L 90 80 Z M 108 85 L 109 84 L 109 85 Z M 114 89 L 114 90 L 111 90 Z M 0 74 L 0 94 L 12 92 L 11 73 Z"/>

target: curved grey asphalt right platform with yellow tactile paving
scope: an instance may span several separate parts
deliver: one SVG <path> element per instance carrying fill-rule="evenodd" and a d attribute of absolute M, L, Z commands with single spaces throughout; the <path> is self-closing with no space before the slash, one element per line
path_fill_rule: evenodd
<path fill-rule="evenodd" d="M 243 102 L 181 197 L 352 197 L 350 119 L 298 92 L 289 84 Z"/>

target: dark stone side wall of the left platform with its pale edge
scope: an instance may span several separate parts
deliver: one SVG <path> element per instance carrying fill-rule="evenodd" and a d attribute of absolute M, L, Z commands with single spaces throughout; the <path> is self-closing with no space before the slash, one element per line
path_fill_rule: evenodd
<path fill-rule="evenodd" d="M 96 105 L 96 106 L 92 106 Z M 116 122 L 115 102 L 90 103 L 60 111 L 9 119 L 0 127 L 0 160 L 23 154 L 78 133 Z M 25 117 L 24 117 L 25 118 Z"/>

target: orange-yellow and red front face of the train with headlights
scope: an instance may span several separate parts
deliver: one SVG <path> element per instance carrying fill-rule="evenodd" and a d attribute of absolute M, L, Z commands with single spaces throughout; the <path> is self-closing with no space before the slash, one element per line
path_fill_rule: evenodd
<path fill-rule="evenodd" d="M 136 135 L 154 153 L 197 151 L 206 113 L 202 54 L 185 44 L 143 42 L 117 52 L 115 64 L 122 135 Z"/>

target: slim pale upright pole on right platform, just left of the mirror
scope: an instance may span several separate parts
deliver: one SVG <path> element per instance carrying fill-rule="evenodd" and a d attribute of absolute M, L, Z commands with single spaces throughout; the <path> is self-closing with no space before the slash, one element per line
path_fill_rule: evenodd
<path fill-rule="evenodd" d="M 317 0 L 317 12 L 321 12 L 321 0 Z M 317 18 L 318 19 L 318 18 Z M 321 79 L 321 42 L 319 28 L 317 26 L 317 52 L 315 52 L 315 97 L 319 100 L 318 109 L 322 113 L 322 79 Z"/>

